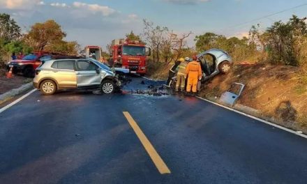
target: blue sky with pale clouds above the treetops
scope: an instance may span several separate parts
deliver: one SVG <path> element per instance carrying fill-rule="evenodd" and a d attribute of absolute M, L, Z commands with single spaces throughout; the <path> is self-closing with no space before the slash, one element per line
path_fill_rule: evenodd
<path fill-rule="evenodd" d="M 146 19 L 177 34 L 192 31 L 192 47 L 195 36 L 209 31 L 241 38 L 255 24 L 265 30 L 293 14 L 306 17 L 307 0 L 0 0 L 0 13 L 12 15 L 24 32 L 53 19 L 67 33 L 66 40 L 103 49 L 130 31 L 142 33 Z"/>

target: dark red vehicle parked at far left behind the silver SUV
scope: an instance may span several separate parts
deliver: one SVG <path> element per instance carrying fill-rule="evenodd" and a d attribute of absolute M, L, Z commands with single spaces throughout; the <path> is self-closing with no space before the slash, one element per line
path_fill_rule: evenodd
<path fill-rule="evenodd" d="M 22 59 L 15 59 L 8 62 L 7 69 L 13 67 L 13 73 L 22 73 L 24 77 L 34 77 L 35 70 L 40 66 L 43 57 L 51 56 L 49 52 L 33 52 Z"/>

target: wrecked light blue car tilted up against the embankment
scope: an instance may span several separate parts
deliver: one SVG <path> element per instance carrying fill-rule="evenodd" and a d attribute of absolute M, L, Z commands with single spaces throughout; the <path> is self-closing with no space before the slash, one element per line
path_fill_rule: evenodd
<path fill-rule="evenodd" d="M 233 65 L 232 57 L 222 49 L 209 49 L 202 52 L 197 55 L 197 60 L 202 67 L 202 82 L 211 79 L 219 73 L 227 74 Z M 174 75 L 177 71 L 172 67 L 170 72 L 173 72 Z M 177 81 L 176 75 L 174 76 L 167 85 L 174 87 Z"/>

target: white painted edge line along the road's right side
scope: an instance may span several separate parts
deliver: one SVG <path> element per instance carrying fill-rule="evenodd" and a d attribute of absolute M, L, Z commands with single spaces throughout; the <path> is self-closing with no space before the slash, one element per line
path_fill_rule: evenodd
<path fill-rule="evenodd" d="M 257 121 L 261 121 L 262 123 L 266 123 L 266 124 L 268 124 L 268 125 L 274 126 L 274 127 L 279 128 L 279 129 L 281 129 L 281 130 L 285 130 L 285 131 L 290 132 L 290 133 L 292 133 L 292 134 L 294 134 L 294 135 L 299 135 L 299 136 L 304 137 L 304 138 L 307 139 L 307 135 L 300 134 L 300 133 L 295 132 L 294 130 L 290 130 L 290 129 L 288 129 L 288 128 L 284 128 L 283 126 L 276 125 L 275 123 L 271 123 L 271 122 L 269 122 L 269 121 L 265 121 L 265 120 L 262 119 L 262 118 L 257 118 L 257 117 L 255 117 L 255 116 L 250 115 L 250 114 L 246 114 L 246 113 L 240 112 L 240 111 L 238 111 L 238 110 L 236 110 L 236 109 L 232 109 L 232 108 L 230 108 L 230 107 L 226 107 L 226 106 L 224 106 L 224 105 L 220 105 L 220 104 L 218 104 L 218 103 L 216 103 L 216 102 L 212 102 L 212 101 L 210 101 L 210 100 L 201 98 L 201 97 L 199 97 L 199 96 L 197 96 L 196 98 L 199 98 L 200 100 L 204 100 L 204 101 L 206 101 L 206 102 L 210 102 L 211 104 L 214 104 L 214 105 L 218 105 L 219 107 L 223 107 L 223 108 L 228 109 L 228 110 L 230 110 L 230 111 L 232 111 L 232 112 L 237 112 L 238 114 L 241 114 L 241 115 L 244 115 L 244 116 L 248 116 L 249 118 L 253 118 L 253 119 L 257 120 Z"/>

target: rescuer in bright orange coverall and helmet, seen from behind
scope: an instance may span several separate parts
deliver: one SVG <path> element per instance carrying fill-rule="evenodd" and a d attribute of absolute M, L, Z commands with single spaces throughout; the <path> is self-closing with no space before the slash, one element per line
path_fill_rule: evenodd
<path fill-rule="evenodd" d="M 188 66 L 186 66 L 186 75 L 188 75 L 186 92 L 190 92 L 192 87 L 192 92 L 196 93 L 198 79 L 202 77 L 202 68 L 200 67 L 200 63 L 197 63 L 197 61 L 191 61 L 188 63 Z"/>

